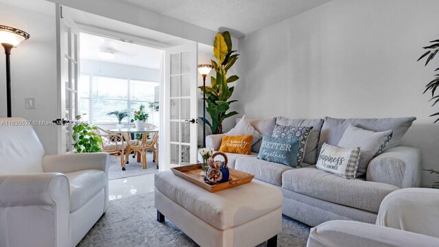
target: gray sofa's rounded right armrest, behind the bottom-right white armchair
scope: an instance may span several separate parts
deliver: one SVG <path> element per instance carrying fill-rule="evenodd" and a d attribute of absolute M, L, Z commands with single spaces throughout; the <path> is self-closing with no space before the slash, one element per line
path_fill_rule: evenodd
<path fill-rule="evenodd" d="M 370 161 L 366 180 L 400 188 L 419 187 L 422 154 L 418 148 L 390 148 Z"/>

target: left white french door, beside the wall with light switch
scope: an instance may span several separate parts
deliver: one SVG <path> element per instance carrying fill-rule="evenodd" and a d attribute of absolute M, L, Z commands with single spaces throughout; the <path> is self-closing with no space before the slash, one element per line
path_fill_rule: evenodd
<path fill-rule="evenodd" d="M 72 150 L 71 122 L 78 115 L 79 29 L 56 4 L 56 51 L 58 80 L 58 154 Z"/>

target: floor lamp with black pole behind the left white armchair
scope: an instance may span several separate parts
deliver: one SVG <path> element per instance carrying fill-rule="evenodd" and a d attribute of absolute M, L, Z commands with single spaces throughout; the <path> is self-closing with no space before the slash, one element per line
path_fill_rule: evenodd
<path fill-rule="evenodd" d="M 27 32 L 18 30 L 14 27 L 0 25 L 0 43 L 5 48 L 6 54 L 6 102 L 8 104 L 8 117 L 12 117 L 11 106 L 11 71 L 10 71 L 10 55 L 11 49 L 19 45 L 21 41 L 30 37 Z"/>

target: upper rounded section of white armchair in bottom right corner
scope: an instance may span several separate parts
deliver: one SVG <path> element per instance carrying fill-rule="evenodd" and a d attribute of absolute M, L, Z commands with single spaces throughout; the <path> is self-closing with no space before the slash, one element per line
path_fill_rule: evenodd
<path fill-rule="evenodd" d="M 439 237 L 438 205 L 438 189 L 398 189 L 381 202 L 377 225 Z"/>

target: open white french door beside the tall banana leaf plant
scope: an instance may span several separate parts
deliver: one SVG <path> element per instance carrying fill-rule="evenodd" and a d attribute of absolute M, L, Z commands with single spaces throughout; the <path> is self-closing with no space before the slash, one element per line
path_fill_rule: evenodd
<path fill-rule="evenodd" d="M 197 162 L 197 47 L 189 43 L 165 50 L 161 169 Z"/>

